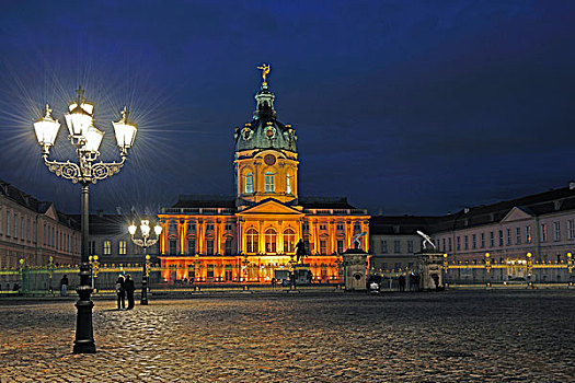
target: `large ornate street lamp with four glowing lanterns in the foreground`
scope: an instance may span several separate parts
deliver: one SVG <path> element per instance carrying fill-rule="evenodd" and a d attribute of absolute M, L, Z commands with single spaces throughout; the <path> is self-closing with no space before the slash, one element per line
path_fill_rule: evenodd
<path fill-rule="evenodd" d="M 42 156 L 48 170 L 57 176 L 70 179 L 73 184 L 82 186 L 82 257 L 80 265 L 79 300 L 76 324 L 76 340 L 73 341 L 74 353 L 94 353 L 95 344 L 92 327 L 92 307 L 94 303 L 90 300 L 92 293 L 91 270 L 88 249 L 88 224 L 89 224 L 89 185 L 100 179 L 107 178 L 119 172 L 124 166 L 127 150 L 131 148 L 136 131 L 135 124 L 129 123 L 126 108 L 122 112 L 122 119 L 114 124 L 117 144 L 120 150 L 120 162 L 104 163 L 94 161 L 100 156 L 100 144 L 104 132 L 94 126 L 94 105 L 84 98 L 84 90 L 78 88 L 78 97 L 68 105 L 65 114 L 66 126 L 69 130 L 68 139 L 76 148 L 78 163 L 66 161 L 57 162 L 48 160 L 50 148 L 56 141 L 60 123 L 51 117 L 51 109 L 46 105 L 44 117 L 34 123 L 34 131 L 42 147 Z"/>

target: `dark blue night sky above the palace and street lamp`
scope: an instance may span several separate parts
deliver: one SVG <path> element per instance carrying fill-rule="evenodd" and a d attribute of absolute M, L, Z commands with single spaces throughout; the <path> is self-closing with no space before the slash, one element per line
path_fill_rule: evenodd
<path fill-rule="evenodd" d="M 0 178 L 67 212 L 32 123 L 78 84 L 106 130 L 140 130 L 91 208 L 233 194 L 233 127 L 261 84 L 298 132 L 300 195 L 441 214 L 575 178 L 573 1 L 3 1 Z M 62 126 L 53 158 L 71 158 Z"/>

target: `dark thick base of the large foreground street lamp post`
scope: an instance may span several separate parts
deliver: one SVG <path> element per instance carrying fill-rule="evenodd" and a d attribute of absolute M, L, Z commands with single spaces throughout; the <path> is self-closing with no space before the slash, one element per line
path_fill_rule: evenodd
<path fill-rule="evenodd" d="M 90 264 L 82 263 L 80 266 L 80 286 L 76 289 L 80 299 L 76 302 L 78 316 L 73 353 L 95 353 L 94 329 L 92 326 L 92 307 L 94 303 L 90 300 L 90 294 L 92 293 L 90 276 Z"/>

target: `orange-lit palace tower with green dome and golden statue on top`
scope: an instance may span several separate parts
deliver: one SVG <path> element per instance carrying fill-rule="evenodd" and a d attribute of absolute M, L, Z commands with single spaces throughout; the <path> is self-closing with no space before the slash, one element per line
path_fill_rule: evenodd
<path fill-rule="evenodd" d="M 274 109 L 275 95 L 269 91 L 263 70 L 262 89 L 255 95 L 256 108 L 251 123 L 235 128 L 237 206 L 252 206 L 267 198 L 280 202 L 298 198 L 298 153 L 296 130 L 281 124 Z"/>

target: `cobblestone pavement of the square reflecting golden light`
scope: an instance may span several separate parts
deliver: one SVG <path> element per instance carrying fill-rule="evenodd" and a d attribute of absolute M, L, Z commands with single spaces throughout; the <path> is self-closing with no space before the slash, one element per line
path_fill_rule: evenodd
<path fill-rule="evenodd" d="M 575 291 L 0 305 L 0 382 L 574 382 Z"/>

